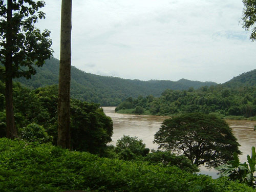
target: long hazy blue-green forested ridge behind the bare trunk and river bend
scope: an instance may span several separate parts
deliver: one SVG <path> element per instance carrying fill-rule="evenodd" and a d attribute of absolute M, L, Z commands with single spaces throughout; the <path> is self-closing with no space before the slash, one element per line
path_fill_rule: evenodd
<path fill-rule="evenodd" d="M 31 79 L 15 79 L 25 86 L 36 89 L 58 83 L 59 60 L 51 58 L 45 65 L 37 68 L 37 73 Z M 166 89 L 188 90 L 202 86 L 215 85 L 215 82 L 200 82 L 181 79 L 169 80 L 131 80 L 118 77 L 106 77 L 83 72 L 75 67 L 71 68 L 71 97 L 101 105 L 117 105 L 127 97 L 153 95 L 160 96 Z"/>

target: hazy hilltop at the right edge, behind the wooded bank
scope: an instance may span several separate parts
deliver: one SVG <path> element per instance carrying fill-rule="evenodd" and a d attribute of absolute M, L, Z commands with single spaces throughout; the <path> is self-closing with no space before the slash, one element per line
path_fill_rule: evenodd
<path fill-rule="evenodd" d="M 233 77 L 231 80 L 225 82 L 223 85 L 231 88 L 244 86 L 256 87 L 256 69 L 243 73 L 237 77 Z"/>

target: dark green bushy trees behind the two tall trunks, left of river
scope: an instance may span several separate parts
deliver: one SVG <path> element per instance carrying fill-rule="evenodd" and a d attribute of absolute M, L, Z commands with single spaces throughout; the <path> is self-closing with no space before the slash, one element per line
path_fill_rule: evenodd
<path fill-rule="evenodd" d="M 0 96 L 4 95 L 0 81 Z M 28 141 L 53 140 L 57 144 L 57 86 L 29 90 L 15 83 L 14 116 L 19 136 Z M 5 102 L 0 105 L 0 137 L 6 136 Z M 73 150 L 103 153 L 111 141 L 113 123 L 99 104 L 71 99 L 71 147 Z"/>

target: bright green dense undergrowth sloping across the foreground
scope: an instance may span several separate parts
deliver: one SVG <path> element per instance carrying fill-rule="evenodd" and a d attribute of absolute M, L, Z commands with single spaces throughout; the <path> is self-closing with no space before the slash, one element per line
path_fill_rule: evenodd
<path fill-rule="evenodd" d="M 255 191 L 178 167 L 100 158 L 51 144 L 0 139 L 0 191 Z"/>

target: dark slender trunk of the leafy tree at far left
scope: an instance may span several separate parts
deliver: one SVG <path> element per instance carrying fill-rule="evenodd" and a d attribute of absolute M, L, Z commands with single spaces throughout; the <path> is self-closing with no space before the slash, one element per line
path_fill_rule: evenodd
<path fill-rule="evenodd" d="M 6 102 L 6 137 L 14 139 L 17 130 L 14 122 L 12 101 L 12 0 L 7 2 L 7 29 L 6 29 L 6 62 L 5 62 L 5 102 Z"/>

